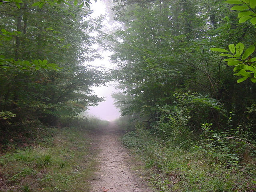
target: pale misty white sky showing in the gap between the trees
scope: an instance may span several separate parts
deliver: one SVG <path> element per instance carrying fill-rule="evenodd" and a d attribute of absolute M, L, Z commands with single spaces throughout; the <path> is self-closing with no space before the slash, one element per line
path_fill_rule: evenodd
<path fill-rule="evenodd" d="M 106 8 L 102 1 L 97 1 L 96 3 L 92 1 L 92 4 L 90 4 L 90 6 L 91 9 L 94 10 L 92 17 L 97 17 L 101 14 L 106 14 Z M 93 62 L 90 62 L 89 64 L 92 66 L 114 68 L 115 66 L 111 64 L 109 61 L 109 56 L 111 52 L 102 51 L 101 54 L 104 57 L 104 59 L 96 59 Z M 99 97 L 105 97 L 105 101 L 100 102 L 98 106 L 89 107 L 89 111 L 87 112 L 89 116 L 95 116 L 107 121 L 116 120 L 120 116 L 119 109 L 114 106 L 114 100 L 111 97 L 112 93 L 118 92 L 118 90 L 114 88 L 114 84 L 114 82 L 110 82 L 108 83 L 108 87 L 92 87 L 92 89 L 94 90 L 94 94 L 98 95 Z"/>

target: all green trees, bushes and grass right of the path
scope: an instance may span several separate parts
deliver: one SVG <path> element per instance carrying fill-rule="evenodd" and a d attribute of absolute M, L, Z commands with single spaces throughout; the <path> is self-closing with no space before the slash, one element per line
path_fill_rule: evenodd
<path fill-rule="evenodd" d="M 138 122 L 123 143 L 156 189 L 255 191 L 256 0 L 114 0 L 113 10 L 124 24 L 109 38 L 113 96 Z"/>

